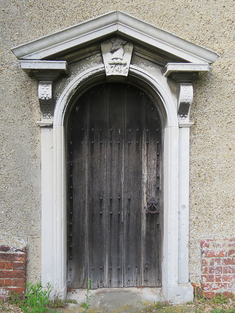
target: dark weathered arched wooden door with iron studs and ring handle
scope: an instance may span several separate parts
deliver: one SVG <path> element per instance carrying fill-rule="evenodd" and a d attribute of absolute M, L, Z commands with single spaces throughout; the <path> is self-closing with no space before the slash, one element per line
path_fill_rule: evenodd
<path fill-rule="evenodd" d="M 161 286 L 161 130 L 150 98 L 121 83 L 89 89 L 72 109 L 69 287 Z"/>

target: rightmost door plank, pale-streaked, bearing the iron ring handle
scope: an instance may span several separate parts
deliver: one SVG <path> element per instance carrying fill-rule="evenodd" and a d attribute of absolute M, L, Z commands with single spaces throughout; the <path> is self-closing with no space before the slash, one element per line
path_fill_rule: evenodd
<path fill-rule="evenodd" d="M 142 285 L 154 287 L 161 286 L 161 120 L 154 103 L 146 95 L 143 109 Z M 150 199 L 157 201 L 159 214 L 146 214 Z"/>

